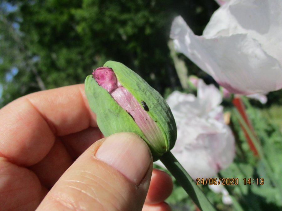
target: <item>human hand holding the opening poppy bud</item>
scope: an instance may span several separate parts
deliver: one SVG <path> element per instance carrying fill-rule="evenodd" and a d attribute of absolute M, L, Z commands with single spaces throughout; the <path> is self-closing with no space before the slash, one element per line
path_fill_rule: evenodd
<path fill-rule="evenodd" d="M 83 84 L 18 98 L 0 125 L 2 210 L 141 210 L 144 201 L 143 211 L 170 210 L 171 178 L 152 170 L 135 134 L 99 140 Z"/>

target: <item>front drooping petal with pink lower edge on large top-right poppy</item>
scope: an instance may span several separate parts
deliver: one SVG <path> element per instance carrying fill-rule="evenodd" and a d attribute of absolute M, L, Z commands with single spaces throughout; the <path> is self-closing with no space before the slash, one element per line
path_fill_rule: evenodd
<path fill-rule="evenodd" d="M 282 88 L 282 69 L 260 44 L 244 34 L 206 39 L 196 36 L 181 17 L 171 29 L 175 50 L 184 53 L 228 91 L 265 93 Z"/>

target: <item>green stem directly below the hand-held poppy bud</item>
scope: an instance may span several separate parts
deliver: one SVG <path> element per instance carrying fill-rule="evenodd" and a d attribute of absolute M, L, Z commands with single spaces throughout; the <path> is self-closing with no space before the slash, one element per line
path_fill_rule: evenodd
<path fill-rule="evenodd" d="M 175 177 L 177 182 L 180 183 L 180 185 L 184 188 L 186 193 L 188 193 L 199 209 L 202 211 L 216 210 L 212 203 L 206 198 L 200 187 L 196 185 L 191 176 L 185 171 L 185 169 L 181 166 L 171 152 L 163 154 L 163 156 L 160 158 L 160 161 Z"/>

